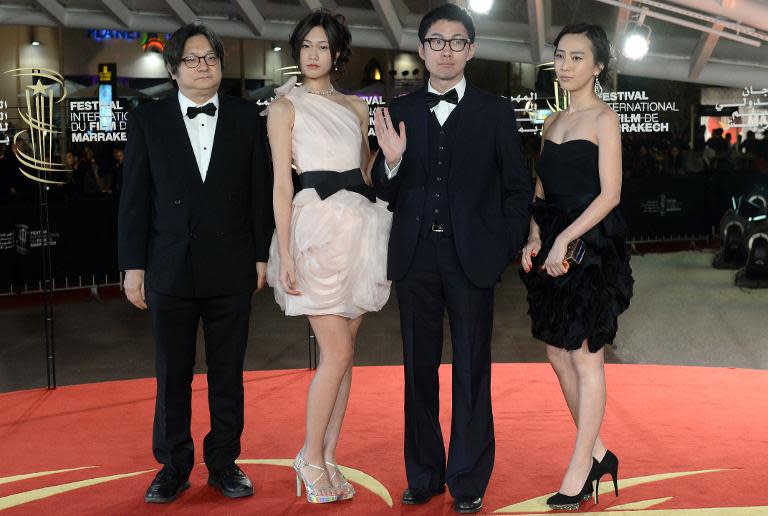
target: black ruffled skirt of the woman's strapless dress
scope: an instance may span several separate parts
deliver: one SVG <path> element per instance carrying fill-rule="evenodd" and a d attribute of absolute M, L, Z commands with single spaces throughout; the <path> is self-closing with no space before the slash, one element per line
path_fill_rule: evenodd
<path fill-rule="evenodd" d="M 542 249 L 533 258 L 531 272 L 520 269 L 520 278 L 528 290 L 533 336 L 567 350 L 581 348 L 586 339 L 594 353 L 613 343 L 618 316 L 632 298 L 626 224 L 619 212 L 612 211 L 581 237 L 587 249 L 581 264 L 556 278 L 539 272 L 557 235 L 581 211 L 569 212 L 541 199 L 534 202 L 532 212 L 541 229 Z"/>

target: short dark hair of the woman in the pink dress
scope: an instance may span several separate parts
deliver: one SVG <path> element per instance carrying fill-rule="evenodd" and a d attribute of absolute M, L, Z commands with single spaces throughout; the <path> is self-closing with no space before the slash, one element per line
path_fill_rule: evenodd
<path fill-rule="evenodd" d="M 352 55 L 352 34 L 347 27 L 347 21 L 341 14 L 333 14 L 326 8 L 315 9 L 302 18 L 293 32 L 288 43 L 291 45 L 291 55 L 296 64 L 299 64 L 301 44 L 315 27 L 322 27 L 328 38 L 328 46 L 331 49 L 334 65 L 337 72 L 344 70 L 344 65 Z"/>

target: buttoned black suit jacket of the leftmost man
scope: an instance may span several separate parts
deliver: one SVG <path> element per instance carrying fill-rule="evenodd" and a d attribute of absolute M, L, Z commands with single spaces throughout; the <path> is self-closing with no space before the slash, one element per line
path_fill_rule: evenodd
<path fill-rule="evenodd" d="M 118 219 L 121 270 L 180 297 L 253 290 L 274 228 L 266 130 L 257 106 L 219 95 L 203 183 L 176 95 L 128 119 Z M 198 115 L 206 116 L 206 115 Z"/>

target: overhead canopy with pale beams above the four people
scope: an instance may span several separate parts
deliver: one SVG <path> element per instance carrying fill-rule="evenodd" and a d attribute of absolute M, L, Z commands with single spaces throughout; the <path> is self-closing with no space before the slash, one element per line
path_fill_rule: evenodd
<path fill-rule="evenodd" d="M 285 41 L 310 9 L 328 7 L 347 18 L 355 46 L 414 50 L 419 19 L 442 3 L 0 0 L 0 23 L 172 32 L 182 23 L 200 21 L 224 37 Z M 535 64 L 550 61 L 552 40 L 574 21 L 599 23 L 618 45 L 627 23 L 637 16 L 652 29 L 650 51 L 639 61 L 621 58 L 619 72 L 720 86 L 768 86 L 768 0 L 496 0 L 488 14 L 474 15 L 476 55 Z"/>

